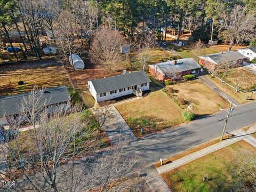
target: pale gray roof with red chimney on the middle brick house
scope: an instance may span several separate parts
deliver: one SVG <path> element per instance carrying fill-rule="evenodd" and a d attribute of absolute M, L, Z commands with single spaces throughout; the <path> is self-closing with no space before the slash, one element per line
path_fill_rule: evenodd
<path fill-rule="evenodd" d="M 201 66 L 199 66 L 198 63 L 192 58 L 177 59 L 176 65 L 174 65 L 174 60 L 158 63 L 156 65 L 158 69 L 160 69 L 165 75 L 201 68 Z M 154 65 L 150 65 L 150 67 L 154 68 Z"/>

